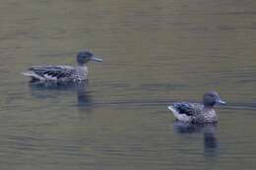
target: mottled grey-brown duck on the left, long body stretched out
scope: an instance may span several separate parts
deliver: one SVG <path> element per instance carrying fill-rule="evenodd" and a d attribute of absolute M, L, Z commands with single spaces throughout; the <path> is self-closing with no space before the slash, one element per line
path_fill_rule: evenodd
<path fill-rule="evenodd" d="M 77 54 L 77 66 L 32 66 L 24 76 L 31 77 L 31 82 L 84 82 L 88 79 L 89 61 L 102 62 L 102 59 L 88 50 Z"/>

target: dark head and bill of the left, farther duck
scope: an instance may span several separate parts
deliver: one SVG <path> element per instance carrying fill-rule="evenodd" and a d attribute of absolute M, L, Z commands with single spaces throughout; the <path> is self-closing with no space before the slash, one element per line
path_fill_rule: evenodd
<path fill-rule="evenodd" d="M 97 58 L 95 54 L 90 51 L 81 51 L 77 55 L 77 62 L 78 62 L 78 65 L 80 66 L 83 66 L 84 64 L 88 63 L 91 60 L 96 62 L 102 62 L 102 59 Z"/>

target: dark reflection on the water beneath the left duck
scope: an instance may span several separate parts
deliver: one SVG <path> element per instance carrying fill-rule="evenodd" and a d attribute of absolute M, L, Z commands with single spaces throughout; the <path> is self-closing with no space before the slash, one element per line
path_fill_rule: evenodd
<path fill-rule="evenodd" d="M 89 106 L 93 102 L 89 91 L 89 81 L 81 83 L 31 82 L 29 85 L 32 96 L 36 98 L 55 98 L 64 91 L 76 91 L 78 106 Z"/>

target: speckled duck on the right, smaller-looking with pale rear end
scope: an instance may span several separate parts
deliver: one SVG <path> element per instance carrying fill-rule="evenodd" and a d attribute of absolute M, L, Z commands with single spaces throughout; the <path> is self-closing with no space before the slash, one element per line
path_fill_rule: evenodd
<path fill-rule="evenodd" d="M 216 104 L 225 104 L 217 91 L 208 91 L 203 95 L 202 103 L 173 102 L 167 108 L 176 121 L 192 124 L 217 123 L 218 116 L 214 109 Z"/>

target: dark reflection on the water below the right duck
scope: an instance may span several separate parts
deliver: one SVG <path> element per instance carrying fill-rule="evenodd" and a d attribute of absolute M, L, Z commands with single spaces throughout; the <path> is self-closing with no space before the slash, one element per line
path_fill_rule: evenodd
<path fill-rule="evenodd" d="M 209 156 L 216 154 L 218 149 L 218 140 L 216 136 L 217 124 L 196 125 L 175 121 L 173 128 L 178 134 L 203 134 L 205 154 Z"/>

